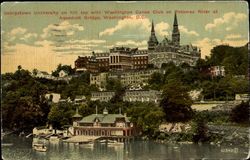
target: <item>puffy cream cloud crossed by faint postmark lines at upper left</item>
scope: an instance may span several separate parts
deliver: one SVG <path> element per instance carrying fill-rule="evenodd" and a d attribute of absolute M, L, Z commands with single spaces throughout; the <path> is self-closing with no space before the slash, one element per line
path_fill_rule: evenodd
<path fill-rule="evenodd" d="M 70 24 L 68 21 L 63 21 L 59 24 L 50 24 L 43 29 L 42 38 L 65 38 L 72 36 L 76 31 L 83 31 L 84 27 L 79 24 Z"/>

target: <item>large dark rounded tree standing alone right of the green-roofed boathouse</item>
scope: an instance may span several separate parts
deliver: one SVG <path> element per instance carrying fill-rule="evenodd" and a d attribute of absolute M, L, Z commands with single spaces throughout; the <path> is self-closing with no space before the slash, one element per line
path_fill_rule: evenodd
<path fill-rule="evenodd" d="M 181 82 L 171 82 L 164 86 L 160 106 L 168 122 L 186 122 L 192 118 L 192 100 Z"/>

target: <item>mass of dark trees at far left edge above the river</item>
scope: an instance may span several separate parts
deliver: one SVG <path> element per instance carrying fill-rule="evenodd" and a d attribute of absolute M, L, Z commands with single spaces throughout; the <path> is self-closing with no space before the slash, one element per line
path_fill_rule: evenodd
<path fill-rule="evenodd" d="M 29 130 L 46 124 L 50 106 L 44 97 L 47 92 L 45 85 L 34 80 L 21 66 L 14 74 L 2 75 L 2 82 L 4 128 Z"/>

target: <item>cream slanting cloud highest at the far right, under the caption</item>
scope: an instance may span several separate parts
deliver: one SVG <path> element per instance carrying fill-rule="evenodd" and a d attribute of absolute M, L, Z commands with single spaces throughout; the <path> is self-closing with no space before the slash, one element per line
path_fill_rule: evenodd
<path fill-rule="evenodd" d="M 206 24 L 205 30 L 211 31 L 222 25 L 227 25 L 227 27 L 225 27 L 226 31 L 230 31 L 236 28 L 239 25 L 239 23 L 245 20 L 246 18 L 247 18 L 247 15 L 243 13 L 228 12 L 228 13 L 225 13 L 220 18 L 214 19 L 212 23 Z"/>

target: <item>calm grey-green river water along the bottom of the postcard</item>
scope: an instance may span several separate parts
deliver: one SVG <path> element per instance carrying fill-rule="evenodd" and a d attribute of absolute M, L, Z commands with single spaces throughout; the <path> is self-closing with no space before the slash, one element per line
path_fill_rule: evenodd
<path fill-rule="evenodd" d="M 109 146 L 95 143 L 93 147 L 43 140 L 47 152 L 32 150 L 32 138 L 6 136 L 2 147 L 4 160 L 188 160 L 244 159 L 248 147 L 198 144 L 160 144 L 152 141 L 133 141 Z"/>

